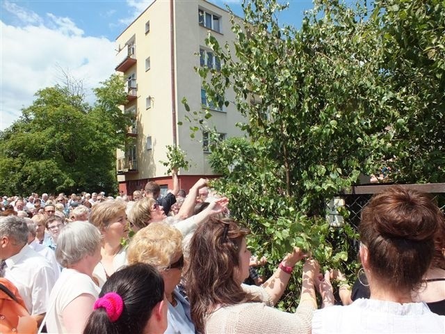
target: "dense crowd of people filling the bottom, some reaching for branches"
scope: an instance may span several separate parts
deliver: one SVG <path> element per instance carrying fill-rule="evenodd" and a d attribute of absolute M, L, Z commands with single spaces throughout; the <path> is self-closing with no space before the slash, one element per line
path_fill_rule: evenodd
<path fill-rule="evenodd" d="M 131 199 L 3 197 L 0 333 L 445 333 L 445 220 L 425 193 L 371 198 L 351 289 L 300 248 L 257 276 L 267 259 L 207 182 L 187 194 L 174 171 L 165 196 L 148 182 Z M 298 262 L 298 308 L 284 312 L 274 305 Z"/>

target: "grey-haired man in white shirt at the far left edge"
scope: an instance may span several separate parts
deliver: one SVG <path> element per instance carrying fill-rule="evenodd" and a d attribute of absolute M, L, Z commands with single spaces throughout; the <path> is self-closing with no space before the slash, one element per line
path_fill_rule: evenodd
<path fill-rule="evenodd" d="M 23 218 L 0 218 L 0 260 L 3 276 L 19 290 L 31 316 L 40 324 L 56 279 L 47 260 L 28 246 L 28 226 Z"/>

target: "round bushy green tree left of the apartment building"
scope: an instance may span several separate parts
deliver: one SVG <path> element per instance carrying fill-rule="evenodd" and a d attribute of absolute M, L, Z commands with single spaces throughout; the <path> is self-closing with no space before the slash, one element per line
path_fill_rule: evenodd
<path fill-rule="evenodd" d="M 0 133 L 0 188 L 10 194 L 115 191 L 115 150 L 129 120 L 118 108 L 124 82 L 111 76 L 90 106 L 70 86 L 44 88 Z"/>

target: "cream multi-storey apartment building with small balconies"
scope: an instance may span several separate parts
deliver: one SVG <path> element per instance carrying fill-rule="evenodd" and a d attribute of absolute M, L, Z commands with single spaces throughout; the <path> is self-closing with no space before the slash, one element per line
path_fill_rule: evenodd
<path fill-rule="evenodd" d="M 230 28 L 229 13 L 208 1 L 155 0 L 118 36 L 115 70 L 127 79 L 123 111 L 133 119 L 127 134 L 131 143 L 117 155 L 120 191 L 131 195 L 148 180 L 161 184 L 163 191 L 170 188 L 171 177 L 159 161 L 167 160 L 166 145 L 175 143 L 191 161 L 191 168 L 180 172 L 181 188 L 188 190 L 198 178 L 213 175 L 207 134 L 191 138 L 188 125 L 177 125 L 186 116 L 183 97 L 192 110 L 212 113 L 209 122 L 221 138 L 241 135 L 235 124 L 242 116 L 232 105 L 218 109 L 209 104 L 194 69 L 220 67 L 204 40 L 211 33 L 224 45 L 234 40 Z M 233 92 L 226 92 L 226 99 L 233 100 Z"/>

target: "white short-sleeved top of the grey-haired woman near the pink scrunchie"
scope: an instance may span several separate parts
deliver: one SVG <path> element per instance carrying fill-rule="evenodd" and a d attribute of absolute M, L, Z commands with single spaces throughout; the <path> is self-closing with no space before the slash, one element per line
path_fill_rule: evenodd
<path fill-rule="evenodd" d="M 63 325 L 63 310 L 81 294 L 90 294 L 97 299 L 99 292 L 99 287 L 90 276 L 64 268 L 49 298 L 46 320 L 48 333 L 68 333 Z"/>

